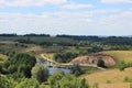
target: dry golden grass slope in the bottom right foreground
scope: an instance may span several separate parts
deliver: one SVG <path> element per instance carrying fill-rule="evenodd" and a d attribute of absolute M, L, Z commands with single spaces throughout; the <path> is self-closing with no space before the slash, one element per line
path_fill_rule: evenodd
<path fill-rule="evenodd" d="M 132 81 L 132 68 L 127 68 L 123 72 L 120 72 L 119 69 L 109 69 L 109 70 L 98 72 L 90 75 L 85 75 L 82 77 L 88 80 L 90 86 L 92 86 L 95 82 L 98 82 L 100 85 L 108 84 L 108 82 L 123 84 L 127 78 L 129 78 L 128 79 L 129 81 Z"/>

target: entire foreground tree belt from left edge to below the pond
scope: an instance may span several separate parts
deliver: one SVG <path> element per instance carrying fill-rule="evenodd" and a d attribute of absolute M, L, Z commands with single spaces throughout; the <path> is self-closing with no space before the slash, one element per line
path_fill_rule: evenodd
<path fill-rule="evenodd" d="M 36 64 L 34 56 L 23 53 L 9 58 L 0 73 L 0 88 L 45 88 L 45 81 L 51 88 L 89 88 L 85 79 L 76 77 L 81 74 L 78 64 L 72 67 L 74 75 L 59 70 L 50 76 L 46 66 Z"/>

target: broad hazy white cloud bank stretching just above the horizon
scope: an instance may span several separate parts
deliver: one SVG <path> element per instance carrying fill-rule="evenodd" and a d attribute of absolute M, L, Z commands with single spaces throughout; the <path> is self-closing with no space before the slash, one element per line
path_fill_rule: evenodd
<path fill-rule="evenodd" d="M 107 14 L 106 14 L 107 13 Z M 44 12 L 43 14 L 0 13 L 1 32 L 50 34 L 129 34 L 132 29 L 132 11 L 101 9 L 78 12 Z M 3 30 L 4 29 L 4 30 Z M 3 31 L 2 31 L 3 30 Z M 123 32 L 123 30 L 127 30 Z"/>

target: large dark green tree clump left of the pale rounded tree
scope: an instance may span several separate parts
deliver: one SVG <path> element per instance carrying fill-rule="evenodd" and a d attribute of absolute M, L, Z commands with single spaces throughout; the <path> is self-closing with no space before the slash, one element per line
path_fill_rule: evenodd
<path fill-rule="evenodd" d="M 4 67 L 9 74 L 23 74 L 25 77 L 31 77 L 31 69 L 35 65 L 36 59 L 29 54 L 18 54 L 4 63 Z"/>

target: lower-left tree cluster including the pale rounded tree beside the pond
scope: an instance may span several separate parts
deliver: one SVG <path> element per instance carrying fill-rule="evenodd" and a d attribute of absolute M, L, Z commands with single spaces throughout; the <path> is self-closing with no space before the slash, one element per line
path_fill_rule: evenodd
<path fill-rule="evenodd" d="M 40 88 L 47 78 L 47 67 L 29 54 L 16 54 L 0 66 L 0 88 Z"/>

